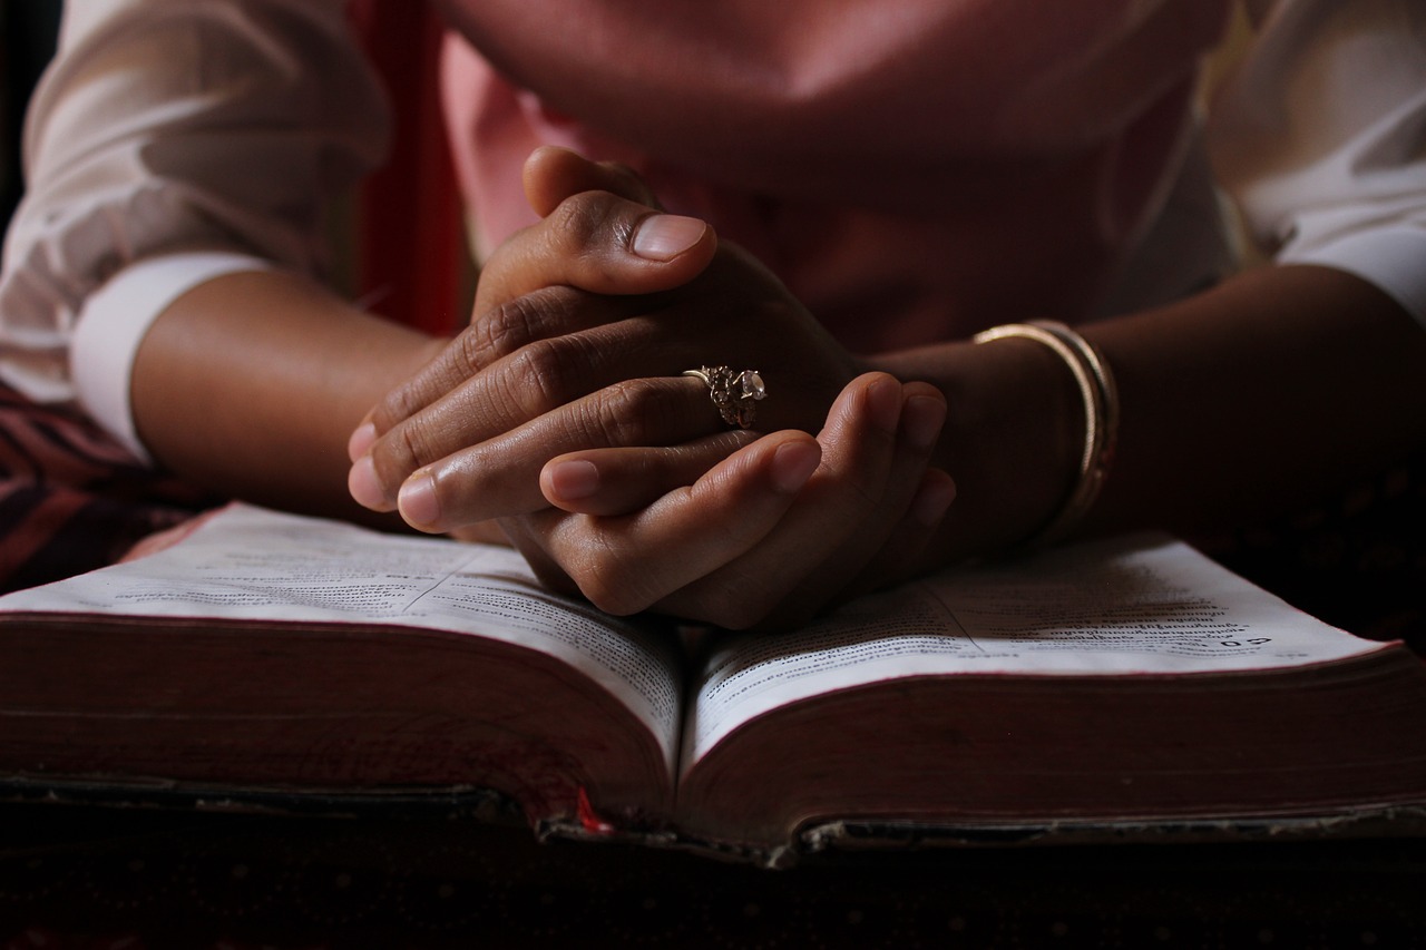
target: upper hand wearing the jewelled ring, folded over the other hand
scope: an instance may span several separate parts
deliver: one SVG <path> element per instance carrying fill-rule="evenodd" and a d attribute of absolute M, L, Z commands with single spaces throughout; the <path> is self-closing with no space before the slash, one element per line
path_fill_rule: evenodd
<path fill-rule="evenodd" d="M 771 274 L 657 213 L 630 173 L 542 150 L 526 185 L 545 217 L 492 255 L 472 325 L 354 434 L 349 485 L 368 508 L 424 531 L 538 511 L 543 464 L 588 448 L 693 445 L 706 471 L 750 434 L 726 431 L 682 371 L 760 369 L 759 432 L 819 431 L 861 372 Z"/>

